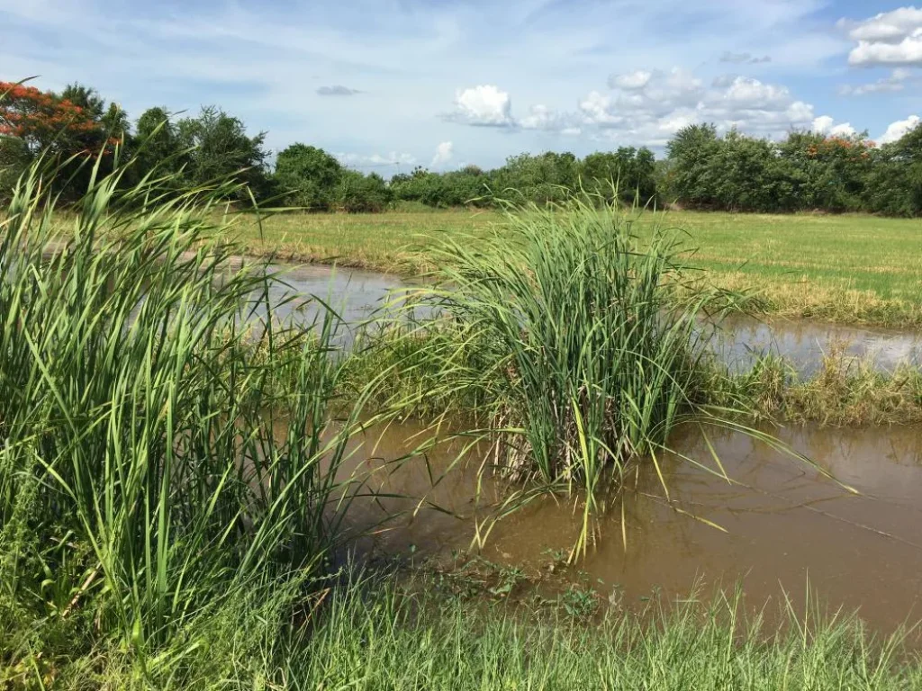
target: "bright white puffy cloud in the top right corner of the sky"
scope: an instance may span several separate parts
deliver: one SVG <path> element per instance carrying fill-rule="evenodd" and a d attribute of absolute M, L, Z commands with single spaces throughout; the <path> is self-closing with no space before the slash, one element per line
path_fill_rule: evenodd
<path fill-rule="evenodd" d="M 840 19 L 838 26 L 857 41 L 848 64 L 922 65 L 922 9 L 898 7 L 859 21 Z"/>

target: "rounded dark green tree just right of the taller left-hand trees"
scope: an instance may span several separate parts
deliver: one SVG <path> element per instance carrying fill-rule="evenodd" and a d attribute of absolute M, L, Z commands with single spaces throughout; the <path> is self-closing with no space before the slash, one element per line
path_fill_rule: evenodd
<path fill-rule="evenodd" d="M 327 211 L 337 204 L 344 172 L 322 148 L 292 144 L 276 158 L 275 182 L 284 204 Z"/>

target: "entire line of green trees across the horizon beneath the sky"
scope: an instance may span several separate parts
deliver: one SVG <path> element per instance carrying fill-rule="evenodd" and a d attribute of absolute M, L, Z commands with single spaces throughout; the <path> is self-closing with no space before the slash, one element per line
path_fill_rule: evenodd
<path fill-rule="evenodd" d="M 0 82 L 0 198 L 41 155 L 71 160 L 64 199 L 86 189 L 91 166 L 112 166 L 116 151 L 132 157 L 135 179 L 151 170 L 203 185 L 229 174 L 247 183 L 246 198 L 312 211 L 378 212 L 396 206 L 488 206 L 496 199 L 560 201 L 588 192 L 625 204 L 766 213 L 865 211 L 922 215 L 922 125 L 897 142 L 876 146 L 867 135 L 792 132 L 783 141 L 717 135 L 714 125 L 682 129 L 656 160 L 650 149 L 623 146 L 585 158 L 571 153 L 521 154 L 494 170 L 467 166 L 417 168 L 385 181 L 343 166 L 323 149 L 293 144 L 273 158 L 266 133 L 218 108 L 171 118 L 165 108 L 135 123 L 93 89 L 61 93 Z M 135 180 L 125 180 L 126 183 Z"/>

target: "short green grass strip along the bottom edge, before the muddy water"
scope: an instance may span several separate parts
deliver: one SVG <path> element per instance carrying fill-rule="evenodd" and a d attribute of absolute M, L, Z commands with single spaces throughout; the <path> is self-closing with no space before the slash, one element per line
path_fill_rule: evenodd
<path fill-rule="evenodd" d="M 182 674 L 142 684 L 124 650 L 18 661 L 7 687 L 226 689 L 913 689 L 922 666 L 904 638 L 851 617 L 747 615 L 741 597 L 652 605 L 631 615 L 559 604 L 514 609 L 427 587 L 345 585 L 299 619 L 229 611 Z M 774 615 L 773 615 L 774 616 Z M 306 617 L 306 618 L 305 618 Z"/>

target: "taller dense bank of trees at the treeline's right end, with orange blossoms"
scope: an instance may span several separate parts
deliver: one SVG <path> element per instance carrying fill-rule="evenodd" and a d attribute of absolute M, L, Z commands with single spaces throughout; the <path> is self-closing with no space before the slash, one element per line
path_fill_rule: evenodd
<path fill-rule="evenodd" d="M 697 124 L 669 142 L 667 155 L 659 196 L 694 208 L 922 214 L 922 125 L 876 146 L 867 135 L 720 137 Z"/>

